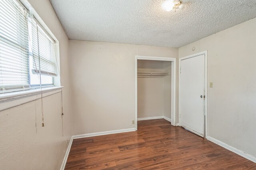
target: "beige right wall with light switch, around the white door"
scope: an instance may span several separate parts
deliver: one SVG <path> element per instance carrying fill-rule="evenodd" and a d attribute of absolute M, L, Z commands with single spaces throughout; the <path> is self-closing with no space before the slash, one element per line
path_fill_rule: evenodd
<path fill-rule="evenodd" d="M 179 48 L 179 57 L 206 50 L 208 135 L 256 156 L 256 18 Z"/>

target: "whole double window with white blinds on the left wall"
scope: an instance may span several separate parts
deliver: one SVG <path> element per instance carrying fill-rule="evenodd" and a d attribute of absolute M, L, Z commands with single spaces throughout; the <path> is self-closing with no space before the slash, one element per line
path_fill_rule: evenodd
<path fill-rule="evenodd" d="M 0 93 L 53 86 L 55 41 L 16 0 L 0 0 Z"/>

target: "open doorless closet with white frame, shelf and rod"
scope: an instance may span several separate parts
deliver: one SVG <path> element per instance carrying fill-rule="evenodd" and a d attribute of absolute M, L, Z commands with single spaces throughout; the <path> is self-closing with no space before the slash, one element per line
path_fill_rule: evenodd
<path fill-rule="evenodd" d="M 176 58 L 135 56 L 137 121 L 166 119 L 176 125 Z"/>

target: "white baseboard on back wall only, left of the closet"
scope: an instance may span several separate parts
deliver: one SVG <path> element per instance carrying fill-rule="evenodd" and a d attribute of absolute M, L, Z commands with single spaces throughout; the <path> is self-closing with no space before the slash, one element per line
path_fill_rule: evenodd
<path fill-rule="evenodd" d="M 73 139 L 79 139 L 84 137 L 94 137 L 94 136 L 101 136 L 101 135 L 110 135 L 115 133 L 124 133 L 124 132 L 132 132 L 136 131 L 135 128 L 130 129 L 120 129 L 120 130 L 114 130 L 114 131 L 105 131 L 105 132 L 96 132 L 96 133 L 87 133 L 83 135 L 74 135 Z"/>

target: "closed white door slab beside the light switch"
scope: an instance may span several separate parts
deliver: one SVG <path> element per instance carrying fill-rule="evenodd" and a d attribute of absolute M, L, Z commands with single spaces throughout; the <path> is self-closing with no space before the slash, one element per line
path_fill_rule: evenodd
<path fill-rule="evenodd" d="M 204 136 L 204 55 L 180 62 L 180 123 Z"/>

